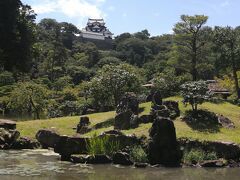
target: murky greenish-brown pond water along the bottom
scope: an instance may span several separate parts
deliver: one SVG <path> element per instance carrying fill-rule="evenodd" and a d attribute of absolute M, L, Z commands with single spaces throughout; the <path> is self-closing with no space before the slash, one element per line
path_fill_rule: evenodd
<path fill-rule="evenodd" d="M 80 165 L 59 161 L 49 150 L 0 151 L 1 180 L 237 180 L 238 168 L 145 168 L 114 165 Z"/>

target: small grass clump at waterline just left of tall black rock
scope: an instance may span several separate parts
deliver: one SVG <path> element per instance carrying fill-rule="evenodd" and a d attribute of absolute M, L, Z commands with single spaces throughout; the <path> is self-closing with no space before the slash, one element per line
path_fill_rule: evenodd
<path fill-rule="evenodd" d="M 141 146 L 133 146 L 130 151 L 130 158 L 134 162 L 147 163 L 147 154 Z"/>

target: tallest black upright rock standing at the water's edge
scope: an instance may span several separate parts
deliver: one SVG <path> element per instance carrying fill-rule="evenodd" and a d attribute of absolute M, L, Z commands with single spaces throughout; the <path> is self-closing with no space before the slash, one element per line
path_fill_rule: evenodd
<path fill-rule="evenodd" d="M 168 118 L 157 117 L 150 129 L 148 158 L 150 164 L 178 166 L 181 153 L 176 140 L 173 122 Z"/>

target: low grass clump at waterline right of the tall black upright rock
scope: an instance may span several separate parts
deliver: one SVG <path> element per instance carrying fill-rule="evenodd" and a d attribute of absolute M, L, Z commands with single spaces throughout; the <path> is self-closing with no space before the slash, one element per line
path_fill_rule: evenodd
<path fill-rule="evenodd" d="M 192 149 L 191 151 L 184 151 L 183 162 L 186 164 L 196 164 L 206 160 L 218 159 L 215 152 L 204 152 L 201 149 Z"/>

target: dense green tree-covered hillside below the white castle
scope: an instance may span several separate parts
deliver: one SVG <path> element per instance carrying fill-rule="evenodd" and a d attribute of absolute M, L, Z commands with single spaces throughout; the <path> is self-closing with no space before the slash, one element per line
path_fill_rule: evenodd
<path fill-rule="evenodd" d="M 207 16 L 182 15 L 173 34 L 123 33 L 112 50 L 81 43 L 73 24 L 35 21 L 20 0 L 0 2 L 0 113 L 41 117 L 114 109 L 125 92 L 163 97 L 186 81 L 218 79 L 240 98 L 240 27 L 208 27 Z"/>

